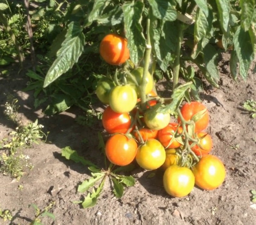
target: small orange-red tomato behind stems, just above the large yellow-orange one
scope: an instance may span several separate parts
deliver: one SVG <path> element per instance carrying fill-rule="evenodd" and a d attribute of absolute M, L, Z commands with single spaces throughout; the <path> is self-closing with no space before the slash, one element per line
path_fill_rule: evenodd
<path fill-rule="evenodd" d="M 198 145 L 195 145 L 191 148 L 191 150 L 193 152 L 195 152 L 195 154 L 197 156 L 204 156 L 207 155 L 211 150 L 212 150 L 212 137 L 210 134 L 207 134 L 205 132 L 199 132 L 197 133 L 197 137 L 201 138 L 199 141 L 199 145 L 201 146 L 201 148 Z"/>

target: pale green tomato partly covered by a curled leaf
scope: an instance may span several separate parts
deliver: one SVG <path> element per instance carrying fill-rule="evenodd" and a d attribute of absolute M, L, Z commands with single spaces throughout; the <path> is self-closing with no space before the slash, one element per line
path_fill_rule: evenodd
<path fill-rule="evenodd" d="M 166 127 L 171 119 L 170 113 L 156 112 L 156 109 L 148 109 L 144 113 L 144 122 L 151 130 L 161 130 Z"/>

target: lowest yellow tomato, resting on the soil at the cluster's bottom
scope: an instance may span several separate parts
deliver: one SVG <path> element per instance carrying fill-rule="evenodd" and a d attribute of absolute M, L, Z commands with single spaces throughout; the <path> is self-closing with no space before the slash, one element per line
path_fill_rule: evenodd
<path fill-rule="evenodd" d="M 164 171 L 163 183 L 168 194 L 180 198 L 192 191 L 195 185 L 195 177 L 188 167 L 172 165 Z"/>

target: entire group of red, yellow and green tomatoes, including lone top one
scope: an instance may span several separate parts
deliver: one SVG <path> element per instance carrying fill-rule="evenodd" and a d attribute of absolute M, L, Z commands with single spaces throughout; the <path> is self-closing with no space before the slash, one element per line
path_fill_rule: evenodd
<path fill-rule="evenodd" d="M 109 64 L 120 65 L 129 58 L 127 42 L 108 34 L 101 41 L 100 54 Z M 135 160 L 146 170 L 162 168 L 164 189 L 174 197 L 188 195 L 195 184 L 206 190 L 219 187 L 226 172 L 220 159 L 208 154 L 212 150 L 211 135 L 204 132 L 209 124 L 208 110 L 199 102 L 185 103 L 177 122 L 171 122 L 169 112 L 158 110 L 160 97 L 152 90 L 150 73 L 147 102 L 141 103 L 142 76 L 143 68 L 138 67 L 122 84 L 108 77 L 98 82 L 96 94 L 108 105 L 102 115 L 103 127 L 111 134 L 105 146 L 108 160 L 119 166 Z"/>

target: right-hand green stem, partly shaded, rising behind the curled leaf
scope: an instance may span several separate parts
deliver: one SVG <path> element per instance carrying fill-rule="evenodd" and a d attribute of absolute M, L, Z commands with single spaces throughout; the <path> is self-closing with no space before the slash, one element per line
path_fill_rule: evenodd
<path fill-rule="evenodd" d="M 177 28 L 178 28 L 178 35 L 179 35 L 179 41 L 176 46 L 176 51 L 175 51 L 175 60 L 173 63 L 173 82 L 172 82 L 172 90 L 174 90 L 178 84 L 179 81 L 179 72 L 180 72 L 180 47 L 181 43 L 183 41 L 183 29 L 180 21 L 177 22 Z"/>

